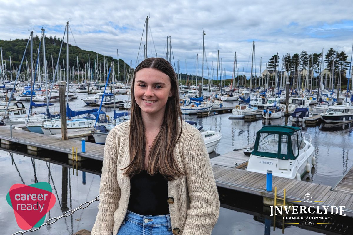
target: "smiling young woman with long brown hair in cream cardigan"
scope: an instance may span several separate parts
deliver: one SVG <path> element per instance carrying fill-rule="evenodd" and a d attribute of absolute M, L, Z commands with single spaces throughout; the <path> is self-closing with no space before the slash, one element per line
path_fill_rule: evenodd
<path fill-rule="evenodd" d="M 163 58 L 134 71 L 130 121 L 107 137 L 92 235 L 211 234 L 220 202 L 200 132 L 181 120 L 178 80 Z"/>

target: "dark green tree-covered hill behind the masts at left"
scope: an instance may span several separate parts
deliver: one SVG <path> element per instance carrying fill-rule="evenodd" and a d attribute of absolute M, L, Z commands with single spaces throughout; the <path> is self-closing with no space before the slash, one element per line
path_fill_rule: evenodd
<path fill-rule="evenodd" d="M 60 51 L 60 46 L 61 46 L 61 39 L 56 38 L 56 36 L 52 37 L 45 37 L 45 45 L 46 45 L 46 61 L 47 61 L 47 68 L 48 68 L 48 73 L 52 74 L 53 67 L 55 68 L 56 62 L 58 61 L 58 55 Z M 19 68 L 19 65 L 22 60 L 23 53 L 26 48 L 26 44 L 28 42 L 28 39 L 15 39 L 15 40 L 10 40 L 10 41 L 5 41 L 5 40 L 0 40 L 0 47 L 2 49 L 2 58 L 3 58 L 3 63 L 4 63 L 4 69 L 7 70 L 7 72 L 16 72 L 17 69 Z M 43 43 L 40 42 L 40 38 L 38 36 L 35 36 L 33 38 L 33 66 L 35 68 L 36 66 L 36 61 L 38 57 L 38 47 L 40 48 L 40 67 L 42 68 L 43 65 Z M 88 60 L 88 55 L 89 55 L 89 60 Z M 26 59 L 24 59 L 24 64 L 22 68 L 27 69 L 26 63 L 28 63 L 28 68 L 30 68 L 30 42 L 28 45 L 28 48 L 25 53 Z M 73 46 L 69 44 L 69 66 L 70 70 L 79 70 L 80 72 L 86 72 L 88 74 L 88 68 L 90 67 L 91 74 L 93 74 L 93 77 L 95 77 L 96 72 L 101 73 L 102 76 L 104 74 L 104 62 L 103 62 L 103 55 L 98 54 L 98 63 L 96 63 L 97 60 L 97 52 L 95 51 L 87 51 L 87 50 L 82 50 L 79 47 Z M 105 56 L 106 62 L 108 61 L 108 66 L 106 65 L 106 68 L 110 67 L 110 64 L 112 61 L 114 61 L 114 72 L 116 79 L 118 79 L 118 60 L 113 59 L 111 56 Z M 10 65 L 10 60 L 11 60 L 11 65 Z M 77 63 L 78 60 L 78 63 Z M 27 62 L 26 62 L 27 61 Z M 1 63 L 1 61 L 0 61 Z M 60 54 L 60 60 L 59 60 L 59 68 L 61 69 L 66 69 L 66 43 L 64 42 L 62 45 L 62 50 Z M 78 69 L 77 69 L 78 67 Z M 1 68 L 1 67 L 0 67 Z M 124 73 L 124 68 L 126 69 L 126 72 Z M 130 70 L 130 66 L 125 63 L 123 60 L 119 60 L 119 75 L 120 75 L 120 80 L 124 81 L 124 74 L 126 76 L 128 75 L 128 72 Z M 21 71 L 23 72 L 23 70 Z M 65 71 L 61 71 L 61 73 L 66 73 Z M 71 71 L 72 73 L 72 71 Z M 106 73 L 107 75 L 107 73 Z M 25 73 L 26 76 L 26 73 Z M 49 75 L 50 76 L 50 75 Z M 127 78 L 125 78 L 127 79 Z"/>

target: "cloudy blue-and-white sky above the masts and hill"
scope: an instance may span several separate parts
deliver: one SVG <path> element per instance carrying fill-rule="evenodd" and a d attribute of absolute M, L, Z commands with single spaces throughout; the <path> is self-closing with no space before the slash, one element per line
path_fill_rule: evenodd
<path fill-rule="evenodd" d="M 205 77 L 216 76 L 218 50 L 222 74 L 224 70 L 232 74 L 235 52 L 239 73 L 243 69 L 250 73 L 253 41 L 257 73 L 261 58 L 264 70 L 277 52 L 282 57 L 323 49 L 325 54 L 332 47 L 345 51 L 351 60 L 349 0 L 0 0 L 0 6 L 0 39 L 28 38 L 31 30 L 40 35 L 42 27 L 47 36 L 62 38 L 69 20 L 70 44 L 114 58 L 118 49 L 119 57 L 132 67 L 144 57 L 146 16 L 150 17 L 148 57 L 166 57 L 167 36 L 171 36 L 172 64 L 179 61 L 182 73 L 196 74 L 198 54 L 201 75 L 203 31 Z"/>

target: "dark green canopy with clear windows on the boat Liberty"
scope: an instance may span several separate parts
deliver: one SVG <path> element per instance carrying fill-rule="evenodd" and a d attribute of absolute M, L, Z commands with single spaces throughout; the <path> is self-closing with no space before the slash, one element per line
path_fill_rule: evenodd
<path fill-rule="evenodd" d="M 303 137 L 294 126 L 263 126 L 256 133 L 252 155 L 294 160 L 299 155 Z"/>

